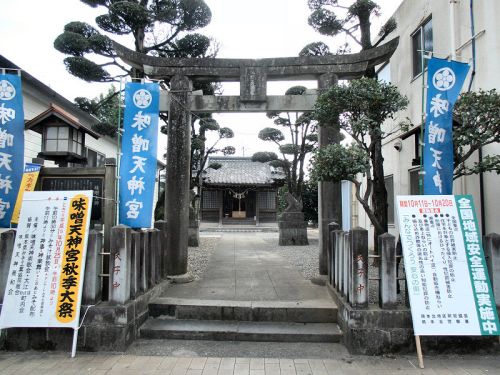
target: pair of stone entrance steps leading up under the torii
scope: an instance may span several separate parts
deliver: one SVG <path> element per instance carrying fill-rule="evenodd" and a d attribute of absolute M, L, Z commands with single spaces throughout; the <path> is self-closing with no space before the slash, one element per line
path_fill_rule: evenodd
<path fill-rule="evenodd" d="M 217 301 L 158 298 L 140 328 L 143 339 L 339 342 L 337 307 L 329 300 Z"/>

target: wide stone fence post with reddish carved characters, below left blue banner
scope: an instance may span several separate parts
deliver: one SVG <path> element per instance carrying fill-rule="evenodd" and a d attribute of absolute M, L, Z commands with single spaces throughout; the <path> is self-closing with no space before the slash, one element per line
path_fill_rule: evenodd
<path fill-rule="evenodd" d="M 132 230 L 126 225 L 111 228 L 109 302 L 124 304 L 130 299 L 130 255 Z"/>

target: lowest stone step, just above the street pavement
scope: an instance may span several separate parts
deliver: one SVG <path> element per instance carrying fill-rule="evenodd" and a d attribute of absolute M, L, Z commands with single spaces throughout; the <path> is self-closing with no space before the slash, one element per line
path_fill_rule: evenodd
<path fill-rule="evenodd" d="M 335 323 L 237 322 L 150 318 L 140 328 L 147 339 L 262 342 L 339 342 Z"/>

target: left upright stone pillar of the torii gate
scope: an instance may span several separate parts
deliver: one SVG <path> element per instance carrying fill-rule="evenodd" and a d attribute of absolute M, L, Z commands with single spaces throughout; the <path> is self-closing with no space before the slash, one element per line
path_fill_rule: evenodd
<path fill-rule="evenodd" d="M 168 222 L 167 273 L 175 276 L 187 272 L 192 85 L 187 77 L 176 75 L 170 81 L 170 90 L 165 218 Z"/>

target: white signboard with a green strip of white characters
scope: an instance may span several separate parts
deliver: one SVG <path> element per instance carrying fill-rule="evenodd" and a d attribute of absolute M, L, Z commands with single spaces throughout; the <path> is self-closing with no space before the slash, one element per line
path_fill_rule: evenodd
<path fill-rule="evenodd" d="M 470 195 L 397 197 L 415 335 L 499 335 Z"/>

